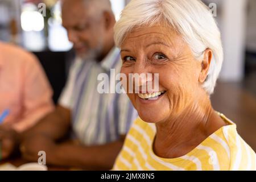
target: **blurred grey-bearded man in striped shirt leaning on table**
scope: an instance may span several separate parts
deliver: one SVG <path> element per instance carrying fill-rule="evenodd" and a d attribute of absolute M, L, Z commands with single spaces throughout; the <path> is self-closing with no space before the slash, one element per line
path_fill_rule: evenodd
<path fill-rule="evenodd" d="M 83 169 L 110 169 L 137 111 L 126 94 L 100 94 L 97 77 L 119 72 L 121 58 L 114 47 L 114 14 L 109 0 L 64 0 L 63 26 L 74 44 L 76 60 L 59 105 L 23 134 L 25 159 Z M 59 143 L 73 131 L 77 143 Z"/>

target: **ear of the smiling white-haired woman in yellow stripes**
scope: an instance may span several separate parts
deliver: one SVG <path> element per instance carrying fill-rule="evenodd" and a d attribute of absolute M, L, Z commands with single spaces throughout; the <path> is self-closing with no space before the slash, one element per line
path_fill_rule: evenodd
<path fill-rule="evenodd" d="M 207 48 L 204 51 L 204 59 L 201 63 L 201 72 L 199 76 L 199 82 L 203 83 L 207 79 L 208 71 L 210 68 L 210 61 L 212 61 L 212 50 Z"/>

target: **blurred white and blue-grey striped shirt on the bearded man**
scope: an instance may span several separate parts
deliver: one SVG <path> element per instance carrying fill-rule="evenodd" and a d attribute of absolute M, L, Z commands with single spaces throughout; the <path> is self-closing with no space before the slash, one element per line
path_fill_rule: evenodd
<path fill-rule="evenodd" d="M 113 48 L 101 63 L 76 59 L 59 104 L 72 110 L 75 137 L 86 145 L 105 144 L 125 135 L 138 117 L 126 94 L 100 94 L 97 77 L 110 69 L 117 74 L 122 61 L 119 49 Z"/>

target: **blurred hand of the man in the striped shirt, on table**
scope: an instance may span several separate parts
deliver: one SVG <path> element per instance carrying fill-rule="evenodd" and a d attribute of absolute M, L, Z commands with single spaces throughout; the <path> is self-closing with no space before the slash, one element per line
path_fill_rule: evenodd
<path fill-rule="evenodd" d="M 46 152 L 46 163 L 51 163 L 54 160 L 56 150 L 55 142 L 43 134 L 29 135 L 20 144 L 20 152 L 22 157 L 31 162 L 38 162 L 39 151 Z"/>

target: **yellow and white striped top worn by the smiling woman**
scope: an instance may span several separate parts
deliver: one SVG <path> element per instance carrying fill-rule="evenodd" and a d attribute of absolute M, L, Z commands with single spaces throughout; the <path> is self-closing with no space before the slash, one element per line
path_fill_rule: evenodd
<path fill-rule="evenodd" d="M 220 114 L 220 113 L 219 113 Z M 236 125 L 221 127 L 187 155 L 164 159 L 152 151 L 154 123 L 138 118 L 131 126 L 114 170 L 256 170 L 255 152 L 238 135 Z"/>

